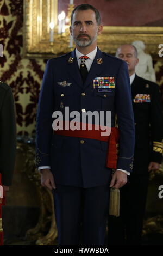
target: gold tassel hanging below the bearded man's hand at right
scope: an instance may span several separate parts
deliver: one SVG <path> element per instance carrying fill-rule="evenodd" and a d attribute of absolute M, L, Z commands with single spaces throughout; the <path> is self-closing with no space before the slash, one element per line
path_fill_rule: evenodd
<path fill-rule="evenodd" d="M 110 188 L 109 214 L 115 217 L 120 216 L 120 190 L 118 188 Z"/>

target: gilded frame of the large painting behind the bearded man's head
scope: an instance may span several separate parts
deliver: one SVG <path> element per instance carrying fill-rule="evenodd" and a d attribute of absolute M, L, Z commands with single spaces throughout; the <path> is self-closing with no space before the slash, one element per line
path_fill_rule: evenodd
<path fill-rule="evenodd" d="M 74 5 L 68 6 L 68 17 Z M 54 22 L 54 42 L 49 42 L 49 23 Z M 58 34 L 58 0 L 24 0 L 24 57 L 51 58 L 69 52 L 69 26 Z M 158 45 L 163 43 L 163 27 L 104 26 L 98 37 L 99 48 L 111 54 L 121 44 L 142 40 L 146 52 L 160 59 Z"/>

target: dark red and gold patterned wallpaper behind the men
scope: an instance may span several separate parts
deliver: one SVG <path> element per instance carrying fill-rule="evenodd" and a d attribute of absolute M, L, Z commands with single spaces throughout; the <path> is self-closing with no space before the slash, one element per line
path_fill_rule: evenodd
<path fill-rule="evenodd" d="M 22 57 L 23 0 L 0 0 L 0 44 L 4 47 L 3 57 L 0 57 L 0 80 L 13 89 L 17 133 L 34 136 L 36 108 L 46 60 Z M 163 91 L 163 59 L 154 62 L 154 68 Z"/>

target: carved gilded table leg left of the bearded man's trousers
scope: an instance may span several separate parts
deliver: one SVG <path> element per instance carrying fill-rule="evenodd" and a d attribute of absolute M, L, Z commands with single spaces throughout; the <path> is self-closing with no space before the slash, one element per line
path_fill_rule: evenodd
<path fill-rule="evenodd" d="M 18 147 L 26 159 L 22 172 L 26 173 L 28 178 L 34 182 L 40 199 L 39 220 L 34 228 L 27 231 L 26 238 L 36 241 L 36 245 L 56 245 L 55 240 L 58 233 L 55 223 L 53 194 L 41 186 L 41 175 L 35 168 L 35 147 L 24 143 L 19 143 Z"/>

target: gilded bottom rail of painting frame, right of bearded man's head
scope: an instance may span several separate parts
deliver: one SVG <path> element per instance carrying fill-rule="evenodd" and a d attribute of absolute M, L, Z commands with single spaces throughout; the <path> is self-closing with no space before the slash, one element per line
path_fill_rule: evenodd
<path fill-rule="evenodd" d="M 158 46 L 163 42 L 163 27 L 103 27 L 98 45 L 104 52 L 115 53 L 118 46 L 135 40 L 145 42 L 146 52 L 158 56 Z"/>

